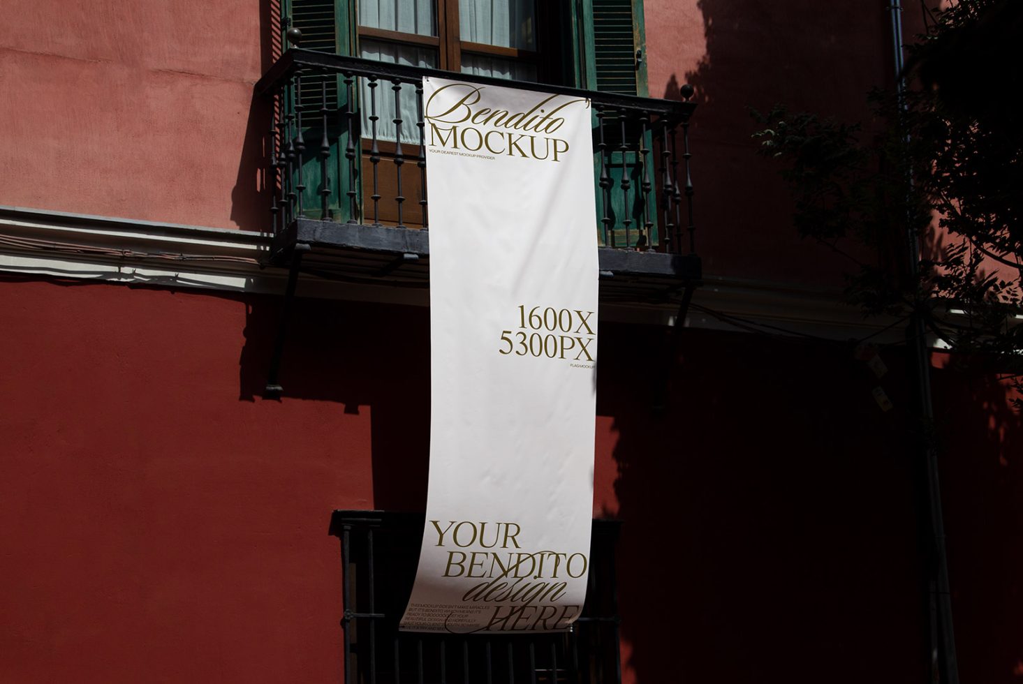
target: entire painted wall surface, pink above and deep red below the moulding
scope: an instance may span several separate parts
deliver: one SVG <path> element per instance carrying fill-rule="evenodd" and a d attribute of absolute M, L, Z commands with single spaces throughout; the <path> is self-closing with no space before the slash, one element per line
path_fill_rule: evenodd
<path fill-rule="evenodd" d="M 652 94 L 698 88 L 711 275 L 841 282 L 795 239 L 745 107 L 861 118 L 890 72 L 883 10 L 648 0 Z M 264 228 L 252 84 L 269 11 L 9 12 L 0 203 Z M 425 504 L 428 312 L 300 302 L 274 402 L 276 298 L 0 287 L 0 680 L 340 681 L 326 526 L 335 508 Z M 594 511 L 625 520 L 626 681 L 923 681 L 897 353 L 883 414 L 844 345 L 685 330 L 678 357 L 661 329 L 602 327 Z M 935 389 L 964 681 L 1008 684 L 1023 672 L 1020 421 L 952 373 Z"/>

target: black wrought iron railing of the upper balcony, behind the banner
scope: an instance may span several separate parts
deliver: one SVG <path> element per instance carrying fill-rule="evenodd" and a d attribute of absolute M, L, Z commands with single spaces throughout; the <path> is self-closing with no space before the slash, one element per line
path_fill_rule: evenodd
<path fill-rule="evenodd" d="M 283 53 L 257 84 L 258 93 L 273 99 L 266 171 L 274 190 L 275 235 L 303 219 L 429 228 L 425 76 L 454 75 L 298 48 Z M 526 87 L 591 101 L 594 230 L 602 245 L 695 253 L 688 147 L 694 102 Z M 682 94 L 691 96 L 692 89 Z"/>

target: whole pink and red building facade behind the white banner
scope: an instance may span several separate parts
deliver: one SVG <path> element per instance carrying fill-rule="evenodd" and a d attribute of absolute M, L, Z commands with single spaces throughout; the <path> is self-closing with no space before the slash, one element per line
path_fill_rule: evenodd
<path fill-rule="evenodd" d="M 746 109 L 868 118 L 864 93 L 893 80 L 888 11 L 499 4 L 7 13 L 0 680 L 931 678 L 904 326 L 841 303 L 842 258 L 797 238 Z M 394 615 L 360 603 L 411 572 L 399 533 L 426 505 L 424 70 L 581 89 L 599 113 L 593 516 L 617 522 L 596 523 L 590 614 L 607 620 L 499 667 L 460 642 L 385 663 Z M 960 672 L 1008 683 L 1020 418 L 996 377 L 943 360 Z"/>

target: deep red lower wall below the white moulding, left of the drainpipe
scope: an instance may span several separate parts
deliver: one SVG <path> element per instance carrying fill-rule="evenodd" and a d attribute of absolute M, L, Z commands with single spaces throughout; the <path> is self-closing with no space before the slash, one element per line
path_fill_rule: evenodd
<path fill-rule="evenodd" d="M 339 681 L 327 521 L 425 505 L 428 312 L 300 300 L 276 402 L 276 298 L 3 287 L 0 678 Z M 602 332 L 626 681 L 922 681 L 911 467 L 865 367 Z"/>

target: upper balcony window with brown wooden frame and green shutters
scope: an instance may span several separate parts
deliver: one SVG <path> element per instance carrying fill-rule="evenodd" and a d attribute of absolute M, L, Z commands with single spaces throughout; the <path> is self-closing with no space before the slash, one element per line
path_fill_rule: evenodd
<path fill-rule="evenodd" d="M 641 0 L 283 0 L 282 11 L 285 25 L 302 31 L 306 49 L 518 82 L 647 95 Z M 358 136 L 361 144 L 356 140 L 353 145 L 347 130 L 326 131 L 326 177 L 337 188 L 328 192 L 327 214 L 335 221 L 425 226 L 425 197 L 415 194 L 422 184 L 406 182 L 401 189 L 409 196 L 399 191 L 403 173 L 399 153 L 407 157 L 410 146 L 418 145 L 419 131 L 409 125 L 417 120 L 413 88 L 405 85 L 395 92 L 383 80 L 358 81 L 348 104 L 358 112 L 351 137 Z M 320 120 L 320 84 L 315 79 L 303 81 L 297 100 L 308 112 L 306 122 Z M 346 105 L 346 89 L 340 78 L 328 79 L 328 108 Z M 310 130 L 307 137 L 318 141 L 322 131 L 322 126 Z M 604 166 L 594 165 L 596 215 L 605 216 L 603 221 L 610 221 L 613 228 L 605 226 L 598 232 L 602 240 L 611 235 L 609 244 L 631 246 L 638 244 L 636 227 L 643 217 L 649 221 L 656 212 L 653 195 L 643 202 L 634 191 L 643 183 L 638 149 L 649 152 L 651 139 L 640 135 L 636 122 L 628 128 L 611 122 L 605 133 L 604 153 L 598 154 Z M 640 137 L 642 145 L 622 142 Z M 307 145 L 303 152 L 302 206 L 309 218 L 322 214 L 310 209 L 320 206 L 319 148 Z M 415 163 L 405 162 L 407 181 Z M 624 193 L 628 201 L 621 193 L 607 192 L 608 187 L 625 184 L 633 188 L 631 194 Z M 349 189 L 343 192 L 342 186 Z"/>

